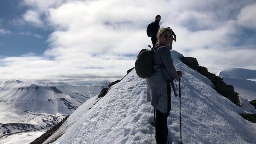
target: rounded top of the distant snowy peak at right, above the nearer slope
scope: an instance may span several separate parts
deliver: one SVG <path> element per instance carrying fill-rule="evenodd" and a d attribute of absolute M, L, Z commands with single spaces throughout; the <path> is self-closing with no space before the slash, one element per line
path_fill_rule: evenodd
<path fill-rule="evenodd" d="M 216 76 L 256 79 L 256 70 L 245 68 L 229 68 L 218 72 Z"/>

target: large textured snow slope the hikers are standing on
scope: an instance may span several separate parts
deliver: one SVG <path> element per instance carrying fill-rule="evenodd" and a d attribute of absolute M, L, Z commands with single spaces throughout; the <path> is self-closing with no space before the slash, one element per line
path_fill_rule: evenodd
<path fill-rule="evenodd" d="M 202 144 L 256 143 L 256 124 L 240 116 L 244 110 L 218 94 L 209 79 L 183 64 L 182 55 L 172 51 L 181 79 L 182 141 Z M 87 103 L 88 102 L 88 103 Z M 81 107 L 89 105 L 89 101 Z M 76 111 L 75 111 L 76 112 Z M 82 109 L 77 109 L 78 113 Z M 146 82 L 133 69 L 113 85 L 89 111 L 77 118 L 54 144 L 155 144 L 154 109 L 146 102 Z M 67 121 L 74 118 L 70 116 Z M 72 118 L 73 117 L 73 118 Z M 173 97 L 168 121 L 168 140 L 179 143 L 179 97 Z M 70 123 L 70 122 L 67 122 Z M 63 128 L 60 128 L 60 130 Z"/>

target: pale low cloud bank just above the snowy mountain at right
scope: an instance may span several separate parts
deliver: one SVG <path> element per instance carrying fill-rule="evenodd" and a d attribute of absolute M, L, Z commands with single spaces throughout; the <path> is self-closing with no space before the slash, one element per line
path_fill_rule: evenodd
<path fill-rule="evenodd" d="M 256 65 L 256 45 L 197 49 L 184 55 L 196 57 L 200 66 L 214 74 L 227 68 L 255 69 Z"/>

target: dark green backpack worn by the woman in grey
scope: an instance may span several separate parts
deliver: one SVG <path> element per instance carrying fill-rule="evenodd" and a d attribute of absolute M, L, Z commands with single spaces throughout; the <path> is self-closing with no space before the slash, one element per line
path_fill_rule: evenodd
<path fill-rule="evenodd" d="M 161 47 L 162 45 L 157 45 L 151 50 L 142 49 L 137 56 L 135 61 L 135 70 L 139 77 L 149 78 L 154 73 L 154 52 L 155 49 Z"/>

